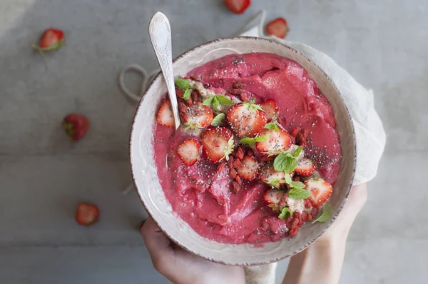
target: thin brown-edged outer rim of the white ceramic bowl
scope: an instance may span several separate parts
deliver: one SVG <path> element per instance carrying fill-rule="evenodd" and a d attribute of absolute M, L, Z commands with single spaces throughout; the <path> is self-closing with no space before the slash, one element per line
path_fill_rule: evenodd
<path fill-rule="evenodd" d="M 325 227 L 325 229 L 321 230 L 319 234 L 317 234 L 314 238 L 312 238 L 312 240 L 308 241 L 307 243 L 305 243 L 304 246 L 302 246 L 302 248 L 299 248 L 298 250 L 295 250 L 292 253 L 288 253 L 287 255 L 284 255 L 280 258 L 275 258 L 272 260 L 268 260 L 268 261 L 250 261 L 249 263 L 226 263 L 225 261 L 221 261 L 221 260 L 215 260 L 213 258 L 209 258 L 208 256 L 204 256 L 204 255 L 200 255 L 199 253 L 191 250 L 190 248 L 185 247 L 184 245 L 180 244 L 177 240 L 175 240 L 170 234 L 168 234 L 168 232 L 161 227 L 161 225 L 159 225 L 158 221 L 153 218 L 153 215 L 150 211 L 150 209 L 148 208 L 148 206 L 146 206 L 146 202 L 143 201 L 143 198 L 141 197 L 140 193 L 138 192 L 138 186 L 136 183 L 136 178 L 134 176 L 134 171 L 133 171 L 133 163 L 132 163 L 132 158 L 131 158 L 131 147 L 132 147 L 132 137 L 133 137 L 133 132 L 134 132 L 134 126 L 136 124 L 136 115 L 138 113 L 138 111 L 141 108 L 141 105 L 143 104 L 144 98 L 146 97 L 146 94 L 148 93 L 148 91 L 150 91 L 151 86 L 153 85 L 154 81 L 156 81 L 156 79 L 159 76 L 162 76 L 162 71 L 159 71 L 156 76 L 153 76 L 152 81 L 148 84 L 148 87 L 146 88 L 146 90 L 144 91 L 144 93 L 142 94 L 140 101 L 138 101 L 138 106 L 136 107 L 136 111 L 133 115 L 133 120 L 132 120 L 132 124 L 131 124 L 131 131 L 129 132 L 129 142 L 128 142 L 128 155 L 129 155 L 129 166 L 131 168 L 131 176 L 132 176 L 132 180 L 133 180 L 133 188 L 135 189 L 136 193 L 138 194 L 138 197 L 141 201 L 141 203 L 143 204 L 143 207 L 146 209 L 146 212 L 148 213 L 148 217 L 150 217 L 154 223 L 156 223 L 156 225 L 158 225 L 158 227 L 162 230 L 162 232 L 175 244 L 177 244 L 180 248 L 183 248 L 183 250 L 188 251 L 189 253 L 192 253 L 194 255 L 198 255 L 201 258 L 204 258 L 206 260 L 210 260 L 214 263 L 220 263 L 223 265 L 237 265 L 237 266 L 245 266 L 245 267 L 250 267 L 250 266 L 256 266 L 256 265 L 266 265 L 266 264 L 270 264 L 270 263 L 276 263 L 280 260 L 283 260 L 285 258 L 289 258 L 292 255 L 296 255 L 297 253 L 300 253 L 302 250 L 305 250 L 305 248 L 309 247 L 310 245 L 312 245 L 312 243 L 315 243 L 315 241 L 320 238 L 327 230 L 328 228 L 330 228 L 330 226 L 332 225 L 332 223 L 337 219 L 337 216 L 340 214 L 340 212 L 343 209 L 343 206 L 345 206 L 345 203 L 347 202 L 347 199 L 350 195 L 350 191 L 352 189 L 353 186 L 353 181 L 355 178 L 355 171 L 356 171 L 356 166 L 357 166 L 357 141 L 356 141 L 356 137 L 355 137 L 355 126 L 354 126 L 354 122 L 352 120 L 352 116 L 350 114 L 350 111 L 347 107 L 347 104 L 345 103 L 345 100 L 343 99 L 342 93 L 339 91 L 339 88 L 337 88 L 335 82 L 332 81 L 332 79 L 330 78 L 330 76 L 327 75 L 327 73 L 325 73 L 325 71 L 318 66 L 318 64 L 315 64 L 314 61 L 312 61 L 311 59 L 307 58 L 307 56 L 303 55 L 302 53 L 300 53 L 300 51 L 297 51 L 297 49 L 292 48 L 291 46 L 288 46 L 287 44 L 284 44 L 280 41 L 275 41 L 273 39 L 265 39 L 265 38 L 260 38 L 260 37 L 256 37 L 256 36 L 230 36 L 230 37 L 225 37 L 225 38 L 220 38 L 220 39 L 214 39 L 212 41 L 206 41 L 203 44 L 198 44 L 197 46 L 193 46 L 191 49 L 188 49 L 187 51 L 184 51 L 183 53 L 181 53 L 180 55 L 176 56 L 173 59 L 173 64 L 175 63 L 175 61 L 177 61 L 178 59 L 182 58 L 183 56 L 189 54 L 190 52 L 195 51 L 195 49 L 199 49 L 200 47 L 203 46 L 208 46 L 210 44 L 214 44 L 217 43 L 219 41 L 230 41 L 230 40 L 258 40 L 258 41 L 268 41 L 270 43 L 273 44 L 279 44 L 283 47 L 285 47 L 286 49 L 290 49 L 293 52 L 295 52 L 296 54 L 299 54 L 300 56 L 304 57 L 307 61 L 309 61 L 311 64 L 313 64 L 314 66 L 317 67 L 317 69 L 320 69 L 320 71 L 322 73 L 324 73 L 325 78 L 327 78 L 328 81 L 330 81 L 330 83 L 332 84 L 332 86 L 335 88 L 335 90 L 337 91 L 337 93 L 340 95 L 340 100 L 343 103 L 343 106 L 345 106 L 345 110 L 347 113 L 347 117 L 350 120 L 350 126 L 351 126 L 351 131 L 352 131 L 352 137 L 354 140 L 354 159 L 353 159 L 353 166 L 352 166 L 352 176 L 350 178 L 350 186 L 348 188 L 346 188 L 346 194 L 345 194 L 345 198 L 343 199 L 343 201 L 340 203 L 339 208 L 337 209 L 337 213 L 332 216 L 329 220 L 329 223 L 327 224 L 327 227 Z M 329 102 L 330 103 L 330 102 Z M 146 221 L 146 220 L 145 220 Z M 233 244 L 232 244 L 233 245 Z"/>

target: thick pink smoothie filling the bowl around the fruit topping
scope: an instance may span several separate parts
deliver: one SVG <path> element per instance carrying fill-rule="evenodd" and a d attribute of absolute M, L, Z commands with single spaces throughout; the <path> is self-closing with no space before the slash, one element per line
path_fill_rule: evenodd
<path fill-rule="evenodd" d="M 226 93 L 241 81 L 256 103 L 275 100 L 282 126 L 289 132 L 296 126 L 307 129 L 305 156 L 315 161 L 322 178 L 336 181 L 340 141 L 332 107 L 295 61 L 275 54 L 235 54 L 208 62 L 188 76 L 200 78 L 216 93 Z M 284 237 L 285 220 L 277 218 L 263 199 L 269 186 L 244 181 L 241 191 L 232 193 L 227 166 L 218 173 L 218 165 L 204 158 L 193 166 L 183 164 L 176 151 L 187 134 L 157 124 L 154 131 L 154 158 L 165 196 L 197 233 L 222 243 L 265 243 Z"/>

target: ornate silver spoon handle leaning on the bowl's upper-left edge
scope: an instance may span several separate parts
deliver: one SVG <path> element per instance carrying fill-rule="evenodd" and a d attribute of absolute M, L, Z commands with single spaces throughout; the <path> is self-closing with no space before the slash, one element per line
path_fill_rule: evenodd
<path fill-rule="evenodd" d="M 173 73 L 173 53 L 171 47 L 171 26 L 168 18 L 161 12 L 153 15 L 148 24 L 148 35 L 155 50 L 156 58 L 165 78 L 166 88 L 173 107 L 175 129 L 180 126 L 180 116 L 178 115 L 177 96 L 175 96 L 175 84 Z"/>

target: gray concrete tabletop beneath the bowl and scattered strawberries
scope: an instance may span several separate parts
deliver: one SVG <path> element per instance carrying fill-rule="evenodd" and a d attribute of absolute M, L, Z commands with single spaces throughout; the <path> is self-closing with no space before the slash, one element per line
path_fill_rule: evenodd
<path fill-rule="evenodd" d="M 163 11 L 174 55 L 230 36 L 259 9 L 285 16 L 288 39 L 332 56 L 374 89 L 387 130 L 379 174 L 350 233 L 341 283 L 427 283 L 428 2 L 253 1 L 242 16 L 223 1 L 3 0 L 0 2 L 0 283 L 168 283 L 151 266 L 136 227 L 143 208 L 130 182 L 128 131 L 135 106 L 116 84 L 119 69 L 156 67 L 147 26 Z M 67 46 L 31 51 L 40 31 L 66 31 Z M 137 87 L 137 77 L 128 83 Z M 73 144 L 60 121 L 91 119 Z M 81 228 L 78 201 L 101 221 Z M 285 271 L 287 260 L 277 274 Z M 278 280 L 279 281 L 279 280 Z M 279 282 L 278 282 L 279 283 Z"/>

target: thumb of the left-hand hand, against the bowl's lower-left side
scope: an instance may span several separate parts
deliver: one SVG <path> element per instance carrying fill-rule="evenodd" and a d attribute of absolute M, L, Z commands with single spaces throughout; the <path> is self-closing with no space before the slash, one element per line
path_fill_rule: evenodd
<path fill-rule="evenodd" d="M 141 226 L 141 235 L 150 254 L 153 266 L 160 273 L 173 260 L 174 251 L 170 239 L 162 232 L 151 217 Z"/>

